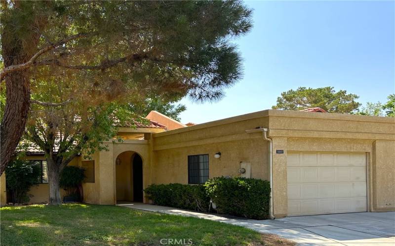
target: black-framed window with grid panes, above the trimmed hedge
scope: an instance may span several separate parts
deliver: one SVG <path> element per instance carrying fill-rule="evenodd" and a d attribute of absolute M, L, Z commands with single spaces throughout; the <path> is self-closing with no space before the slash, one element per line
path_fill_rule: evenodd
<path fill-rule="evenodd" d="M 203 184 L 208 180 L 208 154 L 188 155 L 188 184 Z"/>

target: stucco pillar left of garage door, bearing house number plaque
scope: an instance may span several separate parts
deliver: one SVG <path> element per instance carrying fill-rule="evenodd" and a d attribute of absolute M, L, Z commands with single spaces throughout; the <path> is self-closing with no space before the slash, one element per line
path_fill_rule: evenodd
<path fill-rule="evenodd" d="M 287 215 L 287 138 L 273 137 L 273 208 L 275 217 Z M 277 150 L 284 151 L 276 154 Z"/>

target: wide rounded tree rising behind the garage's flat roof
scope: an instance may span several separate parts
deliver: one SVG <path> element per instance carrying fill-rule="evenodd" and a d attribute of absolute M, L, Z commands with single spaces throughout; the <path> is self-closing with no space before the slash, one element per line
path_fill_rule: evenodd
<path fill-rule="evenodd" d="M 343 90 L 335 92 L 333 87 L 299 87 L 296 91 L 282 92 L 272 109 L 302 110 L 319 107 L 330 113 L 350 114 L 360 106 L 355 101 L 357 98 L 356 94 L 347 94 Z"/>

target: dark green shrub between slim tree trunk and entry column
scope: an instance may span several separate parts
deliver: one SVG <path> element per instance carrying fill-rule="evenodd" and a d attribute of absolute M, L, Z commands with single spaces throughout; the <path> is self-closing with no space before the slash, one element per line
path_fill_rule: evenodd
<path fill-rule="evenodd" d="M 84 169 L 66 166 L 60 174 L 59 186 L 66 190 L 66 196 L 73 196 L 76 200 L 80 200 L 79 189 L 84 178 Z"/>

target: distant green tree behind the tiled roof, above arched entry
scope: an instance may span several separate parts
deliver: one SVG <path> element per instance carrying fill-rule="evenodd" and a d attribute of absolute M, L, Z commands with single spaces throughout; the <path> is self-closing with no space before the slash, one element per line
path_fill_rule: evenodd
<path fill-rule="evenodd" d="M 152 110 L 155 110 L 179 122 L 181 121 L 179 115 L 187 110 L 185 105 L 177 104 L 179 99 L 181 98 L 174 98 L 169 101 L 163 100 L 154 95 L 153 97 L 147 98 L 142 102 L 130 104 L 129 108 L 130 111 L 141 116 L 147 116 Z"/>

